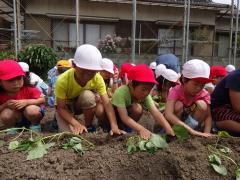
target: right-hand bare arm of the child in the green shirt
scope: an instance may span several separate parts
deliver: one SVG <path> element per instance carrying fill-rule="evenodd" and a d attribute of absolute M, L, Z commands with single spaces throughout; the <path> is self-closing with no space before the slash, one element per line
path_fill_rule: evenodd
<path fill-rule="evenodd" d="M 168 121 L 165 119 L 165 117 L 162 115 L 161 112 L 158 111 L 155 105 L 152 105 L 149 109 L 150 113 L 152 114 L 153 118 L 165 129 L 167 134 L 170 134 L 174 136 L 174 131 L 171 128 Z"/>

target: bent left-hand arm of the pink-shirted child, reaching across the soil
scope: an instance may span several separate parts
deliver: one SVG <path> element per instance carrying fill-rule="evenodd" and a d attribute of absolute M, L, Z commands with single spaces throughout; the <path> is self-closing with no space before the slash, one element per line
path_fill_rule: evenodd
<path fill-rule="evenodd" d="M 192 135 L 197 135 L 197 136 L 203 136 L 203 137 L 209 137 L 210 134 L 208 133 L 202 133 L 195 131 L 191 127 L 189 127 L 186 123 L 182 122 L 175 114 L 174 114 L 174 106 L 175 106 L 176 101 L 175 100 L 167 100 L 166 103 L 166 108 L 165 108 L 165 117 L 166 119 L 171 123 L 171 124 L 176 124 L 183 126 L 188 130 L 188 132 Z"/>

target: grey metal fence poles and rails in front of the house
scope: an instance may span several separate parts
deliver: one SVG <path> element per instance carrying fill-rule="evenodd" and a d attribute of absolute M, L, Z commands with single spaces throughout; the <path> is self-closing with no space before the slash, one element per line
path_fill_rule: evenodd
<path fill-rule="evenodd" d="M 100 0 L 92 0 L 92 1 L 100 1 Z M 109 2 L 109 1 L 108 1 Z M 116 2 L 116 1 L 111 1 L 111 2 Z M 132 1 L 127 1 L 128 3 L 131 2 L 132 4 L 132 43 L 131 43 L 131 59 L 133 62 L 135 61 L 135 55 L 136 55 L 136 42 L 138 42 L 138 53 L 140 53 L 140 47 L 141 47 L 141 42 L 146 42 L 146 41 L 151 41 L 155 43 L 160 43 L 164 44 L 167 42 L 180 42 L 182 41 L 182 64 L 188 59 L 188 54 L 189 54 L 189 43 L 192 42 L 189 38 L 189 24 L 190 24 L 190 12 L 191 12 L 191 1 L 190 0 L 183 0 L 180 1 L 180 4 L 183 5 L 183 35 L 182 39 L 176 38 L 176 39 L 164 39 L 164 38 L 156 38 L 156 39 L 147 39 L 147 38 L 141 38 L 141 25 L 139 29 L 139 37 L 136 37 L 136 23 L 137 23 L 137 5 L 138 4 L 144 4 L 145 2 L 143 1 L 137 1 L 137 0 L 132 0 Z M 124 3 L 127 3 L 124 2 Z M 196 2 L 196 1 L 195 1 Z M 210 1 L 209 1 L 210 2 Z M 22 42 L 21 42 L 21 36 L 23 33 L 38 33 L 37 31 L 34 30 L 24 30 L 22 22 L 24 21 L 24 16 L 22 15 L 24 11 L 24 6 L 21 4 L 21 0 L 12 0 L 12 3 L 8 0 L 2 0 L 1 1 L 2 5 L 4 4 L 5 6 L 8 6 L 8 9 L 3 10 L 0 8 L 0 15 L 4 15 L 5 18 L 7 17 L 10 22 L 13 22 L 13 27 L 12 28 L 1 28 L 1 31 L 10 31 L 14 34 L 14 49 L 15 53 L 17 55 L 18 51 L 20 51 L 22 47 Z M 172 3 L 172 1 L 169 0 L 169 3 Z M 146 4 L 146 3 L 145 3 Z M 154 1 L 149 2 L 148 4 L 154 4 Z M 1 5 L 1 4 L 0 4 Z M 76 5 L 76 13 L 75 13 L 75 22 L 76 22 L 76 46 L 79 46 L 80 43 L 80 29 L 79 29 L 79 0 L 75 0 L 75 5 Z M 228 49 L 228 63 L 231 64 L 233 63 L 234 65 L 236 64 L 236 54 L 237 54 L 237 33 L 238 33 L 238 8 L 239 8 L 239 0 L 237 0 L 237 10 L 234 6 L 234 0 L 232 0 L 232 4 L 229 7 L 231 8 L 231 26 L 229 30 L 229 49 Z M 74 18 L 74 17 L 73 17 Z M 232 37 L 233 37 L 233 24 L 234 24 L 234 19 L 236 19 L 236 27 L 235 27 L 235 40 L 234 43 L 232 43 Z M 64 20 L 64 19 L 63 19 Z M 182 20 L 180 20 L 182 22 Z M 171 27 L 170 27 L 171 28 Z M 44 30 L 44 28 L 42 27 Z M 169 32 L 169 31 L 168 31 Z M 166 32 L 166 33 L 168 33 Z M 196 42 L 196 41 L 195 41 Z M 202 41 L 201 41 L 202 42 Z M 215 43 L 215 42 L 212 42 Z M 233 55 L 232 55 L 233 54 Z"/>

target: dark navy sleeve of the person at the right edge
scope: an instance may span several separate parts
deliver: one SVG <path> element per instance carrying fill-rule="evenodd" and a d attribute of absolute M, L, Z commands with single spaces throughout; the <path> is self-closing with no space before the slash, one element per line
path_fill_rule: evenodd
<path fill-rule="evenodd" d="M 225 88 L 240 92 L 240 72 L 237 71 L 227 78 Z"/>

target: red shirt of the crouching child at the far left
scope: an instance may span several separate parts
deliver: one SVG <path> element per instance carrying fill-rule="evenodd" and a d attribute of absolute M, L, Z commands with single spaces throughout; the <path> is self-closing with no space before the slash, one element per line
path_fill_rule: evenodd
<path fill-rule="evenodd" d="M 5 92 L 0 93 L 0 104 L 3 104 L 8 100 L 38 99 L 40 97 L 41 92 L 36 87 L 25 86 L 13 96 L 8 96 Z"/>

